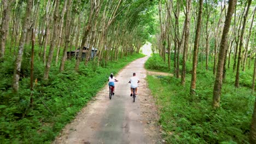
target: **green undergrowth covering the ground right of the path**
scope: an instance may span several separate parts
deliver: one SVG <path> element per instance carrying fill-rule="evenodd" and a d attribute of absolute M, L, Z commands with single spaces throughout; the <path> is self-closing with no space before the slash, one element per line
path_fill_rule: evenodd
<path fill-rule="evenodd" d="M 159 56 L 146 62 L 153 65 Z M 203 64 L 203 69 L 201 67 Z M 167 67 L 163 65 L 162 67 Z M 235 73 L 226 71 L 222 87 L 220 109 L 212 109 L 215 77 L 212 63 L 205 70 L 205 61 L 197 65 L 196 95 L 189 95 L 192 63 L 187 62 L 185 86 L 180 79 L 166 76 L 148 76 L 149 88 L 160 109 L 159 123 L 167 143 L 248 143 L 255 95 L 251 92 L 253 71 L 240 73 L 240 88 L 235 88 Z M 147 68 L 147 67 L 146 67 Z M 150 67 L 164 71 L 161 67 Z"/>

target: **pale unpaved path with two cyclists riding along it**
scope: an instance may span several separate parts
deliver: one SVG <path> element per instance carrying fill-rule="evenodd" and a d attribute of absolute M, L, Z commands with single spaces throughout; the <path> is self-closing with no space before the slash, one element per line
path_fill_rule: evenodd
<path fill-rule="evenodd" d="M 161 143 L 157 109 L 146 82 L 147 59 L 139 58 L 115 75 L 119 81 L 112 99 L 106 85 L 53 143 Z M 132 73 L 140 80 L 135 103 L 128 83 Z"/>

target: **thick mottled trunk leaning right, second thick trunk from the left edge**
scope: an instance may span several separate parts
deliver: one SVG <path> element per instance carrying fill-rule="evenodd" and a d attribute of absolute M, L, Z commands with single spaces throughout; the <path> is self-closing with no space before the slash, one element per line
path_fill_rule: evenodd
<path fill-rule="evenodd" d="M 26 33 L 27 33 L 27 28 L 28 28 L 28 23 L 29 23 L 28 20 L 30 20 L 30 14 L 31 14 L 32 7 L 33 7 L 32 0 L 27 0 L 26 13 L 24 16 L 24 20 L 23 20 L 23 24 L 22 24 L 22 32 L 21 32 L 21 36 L 20 36 L 19 52 L 16 57 L 15 67 L 14 67 L 14 75 L 13 75 L 13 91 L 14 92 L 19 91 L 19 79 L 20 79 L 22 55 L 23 55 L 23 51 L 24 51 Z"/>

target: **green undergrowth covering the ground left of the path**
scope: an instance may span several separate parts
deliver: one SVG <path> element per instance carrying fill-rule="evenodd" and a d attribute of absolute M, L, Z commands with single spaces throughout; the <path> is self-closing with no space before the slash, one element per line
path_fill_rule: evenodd
<path fill-rule="evenodd" d="M 26 54 L 25 54 L 26 55 Z M 44 65 L 36 60 L 33 105 L 30 107 L 30 62 L 22 63 L 22 77 L 19 93 L 11 91 L 13 76 L 12 61 L 0 63 L 0 143 L 50 143 L 106 85 L 110 73 L 118 73 L 127 63 L 142 55 L 133 55 L 109 62 L 106 67 L 96 67 L 89 62 L 85 67 L 81 62 L 78 73 L 74 72 L 75 60 L 67 61 L 65 71 L 59 73 L 59 65 L 51 66 L 50 78 L 43 81 Z M 11 58 L 11 57 L 10 57 Z"/>

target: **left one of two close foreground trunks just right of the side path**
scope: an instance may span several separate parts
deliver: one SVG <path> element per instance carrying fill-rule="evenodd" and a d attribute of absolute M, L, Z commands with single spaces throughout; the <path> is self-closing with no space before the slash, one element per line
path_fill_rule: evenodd
<path fill-rule="evenodd" d="M 182 76 L 181 76 L 182 85 L 185 85 L 186 61 L 187 61 L 187 51 L 188 51 L 188 45 L 189 45 L 190 9 L 191 9 L 191 0 L 188 0 L 186 5 L 187 11 L 185 16 L 185 39 L 184 39 Z"/>

